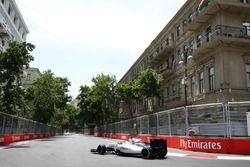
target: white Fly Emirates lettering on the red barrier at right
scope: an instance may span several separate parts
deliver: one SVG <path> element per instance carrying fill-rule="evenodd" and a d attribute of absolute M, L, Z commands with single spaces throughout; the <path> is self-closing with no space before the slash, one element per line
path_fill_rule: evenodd
<path fill-rule="evenodd" d="M 180 146 L 184 149 L 221 150 L 221 142 L 180 140 Z"/>

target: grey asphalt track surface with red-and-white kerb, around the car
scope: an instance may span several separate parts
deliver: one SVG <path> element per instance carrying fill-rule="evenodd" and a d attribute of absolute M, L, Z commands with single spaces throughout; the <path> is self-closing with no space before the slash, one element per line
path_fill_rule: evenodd
<path fill-rule="evenodd" d="M 221 155 L 169 149 L 165 159 L 144 160 L 90 153 L 115 140 L 68 134 L 0 147 L 0 167 L 249 167 L 250 156 Z"/>

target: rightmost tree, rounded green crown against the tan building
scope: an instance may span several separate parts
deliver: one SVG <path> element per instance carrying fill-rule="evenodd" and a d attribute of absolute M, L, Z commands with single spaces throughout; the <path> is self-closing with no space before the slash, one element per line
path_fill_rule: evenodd
<path fill-rule="evenodd" d="M 148 109 L 153 110 L 153 98 L 160 97 L 160 86 L 162 76 L 151 68 L 148 68 L 139 75 L 137 84 L 139 86 L 140 94 L 147 99 Z"/>

